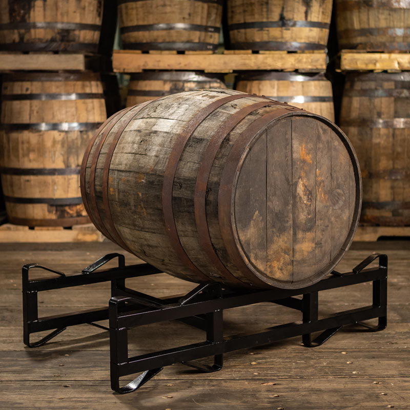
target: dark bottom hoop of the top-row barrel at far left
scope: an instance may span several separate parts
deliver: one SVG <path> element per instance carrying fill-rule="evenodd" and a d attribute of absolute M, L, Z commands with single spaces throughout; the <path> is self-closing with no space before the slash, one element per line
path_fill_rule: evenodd
<path fill-rule="evenodd" d="M 0 51 L 90 51 L 96 52 L 97 43 L 46 42 L 46 43 L 3 43 Z"/>

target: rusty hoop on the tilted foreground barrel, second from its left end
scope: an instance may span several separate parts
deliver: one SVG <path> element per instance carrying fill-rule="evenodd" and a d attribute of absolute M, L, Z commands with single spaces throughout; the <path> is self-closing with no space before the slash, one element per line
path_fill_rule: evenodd
<path fill-rule="evenodd" d="M 101 219 L 101 215 L 98 210 L 97 206 L 97 199 L 95 196 L 95 171 L 97 168 L 97 161 L 99 158 L 99 154 L 101 153 L 101 148 L 104 145 L 104 142 L 107 139 L 108 134 L 111 132 L 111 130 L 114 128 L 115 124 L 117 124 L 117 121 L 120 120 L 124 115 L 130 111 L 132 107 L 126 108 L 124 110 L 119 111 L 116 113 L 114 118 L 107 124 L 107 127 L 104 129 L 104 131 L 101 134 L 97 134 L 101 136 L 97 147 L 95 148 L 94 151 L 94 156 L 91 160 L 91 167 L 90 167 L 90 202 L 87 202 L 87 205 L 90 207 L 91 213 L 93 216 L 95 216 L 95 219 L 99 226 L 101 227 L 101 232 L 104 233 L 109 239 L 111 239 L 113 242 L 115 242 L 113 236 L 111 233 L 108 231 L 108 229 L 105 227 L 103 220 Z"/>

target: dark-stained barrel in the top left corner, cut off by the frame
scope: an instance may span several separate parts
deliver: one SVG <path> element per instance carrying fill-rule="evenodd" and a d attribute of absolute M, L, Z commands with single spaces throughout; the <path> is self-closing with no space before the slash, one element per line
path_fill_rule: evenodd
<path fill-rule="evenodd" d="M 0 50 L 97 52 L 103 0 L 0 0 Z"/>

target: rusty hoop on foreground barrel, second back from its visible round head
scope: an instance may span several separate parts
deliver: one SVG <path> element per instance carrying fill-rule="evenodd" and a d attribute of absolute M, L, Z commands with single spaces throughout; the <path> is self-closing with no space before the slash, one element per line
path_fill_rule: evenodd
<path fill-rule="evenodd" d="M 215 249 L 212 245 L 211 235 L 208 229 L 206 197 L 209 175 L 211 173 L 212 165 L 216 154 L 222 144 L 222 141 L 227 135 L 239 124 L 239 122 L 247 117 L 250 113 L 262 107 L 275 105 L 274 101 L 259 101 L 247 107 L 240 109 L 233 114 L 227 122 L 225 122 L 213 135 L 209 142 L 208 148 L 203 153 L 201 164 L 198 169 L 196 183 L 195 183 L 195 221 L 196 230 L 198 231 L 199 242 L 202 249 L 207 254 L 208 258 L 214 266 L 220 271 L 221 275 L 229 281 L 243 283 L 239 278 L 234 276 L 227 267 L 219 259 Z"/>

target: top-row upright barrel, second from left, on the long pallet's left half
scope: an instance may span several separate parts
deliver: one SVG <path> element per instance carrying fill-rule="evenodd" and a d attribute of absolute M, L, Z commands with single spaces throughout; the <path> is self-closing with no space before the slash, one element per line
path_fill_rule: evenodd
<path fill-rule="evenodd" d="M 122 46 L 134 50 L 216 50 L 222 0 L 118 0 Z"/>

